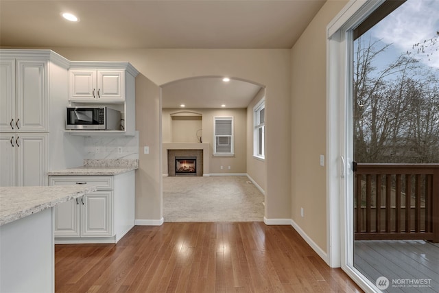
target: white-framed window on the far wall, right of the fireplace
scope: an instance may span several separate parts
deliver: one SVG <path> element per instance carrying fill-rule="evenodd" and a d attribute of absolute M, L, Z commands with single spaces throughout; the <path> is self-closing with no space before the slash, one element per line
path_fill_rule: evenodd
<path fill-rule="evenodd" d="M 213 154 L 233 155 L 233 117 L 213 117 Z"/>

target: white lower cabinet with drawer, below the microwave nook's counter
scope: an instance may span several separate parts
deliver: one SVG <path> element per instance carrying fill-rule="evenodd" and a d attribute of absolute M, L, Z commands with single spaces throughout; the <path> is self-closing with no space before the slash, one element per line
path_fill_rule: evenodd
<path fill-rule="evenodd" d="M 134 226 L 134 171 L 116 176 L 49 176 L 49 185 L 97 187 L 56 206 L 56 244 L 117 243 Z"/>

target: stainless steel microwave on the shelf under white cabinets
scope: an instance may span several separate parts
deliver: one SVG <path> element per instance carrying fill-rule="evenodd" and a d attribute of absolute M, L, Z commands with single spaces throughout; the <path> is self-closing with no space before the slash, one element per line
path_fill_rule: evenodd
<path fill-rule="evenodd" d="M 101 106 L 67 107 L 67 130 L 121 130 L 121 113 Z"/>

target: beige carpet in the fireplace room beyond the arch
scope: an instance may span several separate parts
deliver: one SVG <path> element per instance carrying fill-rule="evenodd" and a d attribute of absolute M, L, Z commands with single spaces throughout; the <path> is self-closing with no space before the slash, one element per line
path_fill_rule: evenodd
<path fill-rule="evenodd" d="M 261 222 L 263 201 L 247 176 L 163 178 L 165 222 Z"/>

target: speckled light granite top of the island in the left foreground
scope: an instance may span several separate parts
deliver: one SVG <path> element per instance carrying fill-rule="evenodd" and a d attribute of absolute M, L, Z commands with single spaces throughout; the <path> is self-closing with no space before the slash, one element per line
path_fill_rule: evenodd
<path fill-rule="evenodd" d="M 95 190 L 78 185 L 0 187 L 0 226 Z"/>

